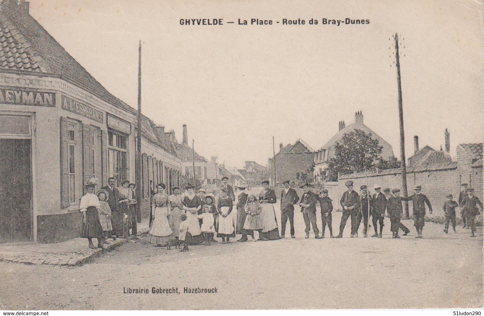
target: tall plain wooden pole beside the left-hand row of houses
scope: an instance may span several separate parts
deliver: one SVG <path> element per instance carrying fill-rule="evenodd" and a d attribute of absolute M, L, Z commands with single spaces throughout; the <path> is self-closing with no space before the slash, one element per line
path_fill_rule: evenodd
<path fill-rule="evenodd" d="M 136 221 L 132 221 L 132 233 L 137 236 L 137 225 L 141 223 L 141 40 L 138 46 L 138 133 L 136 135 Z"/>

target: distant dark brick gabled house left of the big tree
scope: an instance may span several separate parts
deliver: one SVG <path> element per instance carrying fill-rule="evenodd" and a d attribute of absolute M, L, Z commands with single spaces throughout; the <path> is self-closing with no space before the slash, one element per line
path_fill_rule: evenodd
<path fill-rule="evenodd" d="M 304 178 L 312 181 L 313 161 L 314 150 L 301 138 L 294 144 L 287 144 L 284 147 L 280 143 L 279 152 L 275 155 L 276 184 L 286 180 L 302 181 Z M 309 172 L 310 170 L 311 172 Z M 309 177 L 307 177 L 308 172 Z M 273 173 L 273 158 L 269 158 L 269 179 L 273 179 Z"/>

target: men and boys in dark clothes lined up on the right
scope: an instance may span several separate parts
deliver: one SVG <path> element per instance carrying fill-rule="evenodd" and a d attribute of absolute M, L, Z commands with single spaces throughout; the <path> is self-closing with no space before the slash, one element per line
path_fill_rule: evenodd
<path fill-rule="evenodd" d="M 282 222 L 282 236 L 284 236 L 286 230 L 287 218 L 289 218 L 291 224 L 291 237 L 294 238 L 294 204 L 299 200 L 295 190 L 289 187 L 289 182 L 284 182 L 285 191 L 281 193 L 281 222 Z M 415 238 L 423 238 L 423 226 L 425 226 L 425 214 L 426 208 L 429 213 L 432 214 L 432 205 L 427 196 L 422 194 L 422 187 L 417 185 L 414 187 L 414 194 L 408 197 L 400 196 L 400 189 L 384 188 L 382 191 L 381 185 L 375 185 L 375 193 L 373 196 L 368 194 L 368 188 L 366 185 L 360 187 L 360 194 L 353 190 L 353 181 L 346 181 L 345 185 L 347 191 L 343 193 L 340 199 L 340 204 L 343 210 L 341 217 L 341 223 L 339 226 L 339 234 L 333 236 L 332 228 L 332 216 L 333 211 L 332 200 L 328 197 L 328 190 L 323 189 L 317 196 L 310 191 L 311 185 L 305 183 L 301 186 L 304 194 L 301 198 L 300 206 L 306 225 L 306 238 L 309 238 L 309 232 L 311 226 L 315 233 L 315 238 L 324 238 L 325 227 L 328 226 L 331 238 L 342 238 L 343 231 L 348 222 L 348 218 L 351 219 L 351 233 L 350 237 L 358 237 L 358 230 L 363 219 L 363 236 L 367 237 L 368 233 L 368 219 L 372 217 L 372 224 L 375 233 L 371 237 L 382 238 L 385 211 L 390 218 L 390 231 L 392 231 L 393 238 L 400 238 L 398 232 L 403 230 L 404 236 L 407 235 L 410 230 L 400 222 L 403 215 L 402 201 L 412 201 L 413 207 L 413 226 L 417 230 L 417 236 Z M 316 223 L 316 204 L 319 203 L 321 208 L 321 222 L 322 222 L 322 235 L 319 236 L 319 230 Z M 446 201 L 443 206 L 445 216 L 444 232 L 448 234 L 449 224 L 452 223 L 454 232 L 456 225 L 456 213 L 455 208 L 459 207 L 461 210 L 462 219 L 464 222 L 464 228 L 471 229 L 470 237 L 475 237 L 475 217 L 480 214 L 483 209 L 483 204 L 474 196 L 474 189 L 468 188 L 467 183 L 462 184 L 462 191 L 459 194 L 459 202 L 453 200 L 452 194 L 446 196 Z M 480 210 L 479 210 L 480 208 Z M 379 228 L 379 229 L 378 229 Z"/>

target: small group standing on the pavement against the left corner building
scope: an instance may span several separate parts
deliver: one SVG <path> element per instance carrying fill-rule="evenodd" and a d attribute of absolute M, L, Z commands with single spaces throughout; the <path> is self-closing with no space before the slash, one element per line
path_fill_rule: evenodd
<path fill-rule="evenodd" d="M 106 249 L 107 238 L 122 237 L 123 232 L 129 230 L 132 221 L 136 220 L 133 206 L 136 201 L 135 184 L 123 180 L 121 187 L 117 188 L 116 179 L 113 177 L 107 183 L 97 192 L 97 179 L 91 178 L 84 184 L 87 193 L 80 202 L 80 211 L 83 214 L 82 237 L 88 239 L 89 248 L 96 248 L 92 238 L 97 238 L 97 248 Z"/>

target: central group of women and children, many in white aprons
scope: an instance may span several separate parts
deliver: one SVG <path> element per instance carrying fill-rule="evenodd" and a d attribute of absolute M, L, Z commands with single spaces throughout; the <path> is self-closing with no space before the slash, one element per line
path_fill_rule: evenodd
<path fill-rule="evenodd" d="M 178 242 L 183 245 L 181 251 L 186 251 L 189 244 L 211 245 L 217 242 L 215 237 L 229 243 L 230 238 L 240 234 L 239 242 L 248 241 L 248 236 L 256 241 L 254 231 L 259 232 L 259 240 L 279 239 L 273 207 L 276 197 L 269 181 L 262 182 L 264 189 L 258 197 L 247 194 L 246 185 L 238 185 L 240 194 L 235 206 L 234 191 L 227 181 L 227 177 L 222 179 L 218 198 L 204 189 L 195 193 L 193 185 L 187 185 L 184 194 L 179 187 L 174 187 L 173 194 L 168 196 L 165 184 L 157 184 L 157 193 L 152 197 L 148 241 L 160 247 Z"/>

